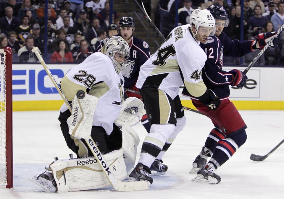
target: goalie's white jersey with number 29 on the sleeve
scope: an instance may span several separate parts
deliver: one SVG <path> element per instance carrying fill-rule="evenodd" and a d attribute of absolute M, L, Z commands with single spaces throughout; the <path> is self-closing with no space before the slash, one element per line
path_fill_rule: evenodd
<path fill-rule="evenodd" d="M 62 78 L 61 89 L 68 101 L 73 101 L 78 90 L 96 96 L 99 101 L 93 117 L 93 125 L 101 126 L 109 135 L 113 122 L 120 113 L 124 78 L 114 70 L 111 59 L 101 52 L 93 53 Z M 60 111 L 67 110 L 62 105 Z"/>

